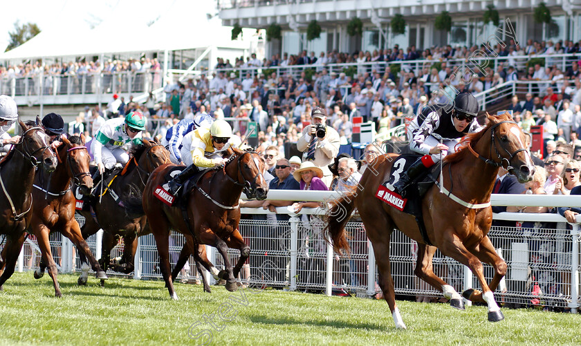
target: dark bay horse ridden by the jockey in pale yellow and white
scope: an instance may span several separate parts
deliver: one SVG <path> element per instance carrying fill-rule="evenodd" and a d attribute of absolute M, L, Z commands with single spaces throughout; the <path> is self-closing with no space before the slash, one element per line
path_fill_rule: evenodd
<path fill-rule="evenodd" d="M 223 168 L 208 170 L 198 181 L 198 185 L 186 194 L 187 217 L 179 206 L 169 207 L 154 196 L 158 185 L 163 185 L 167 172 L 175 165 L 163 165 L 156 169 L 147 181 L 142 196 L 142 206 L 147 215 L 151 232 L 154 233 L 160 268 L 173 299 L 178 299 L 174 291 L 172 273 L 169 268 L 169 230 L 170 228 L 185 236 L 186 244 L 196 261 L 205 266 L 210 273 L 226 280 L 226 289 L 236 291 L 234 279 L 250 255 L 250 248 L 244 243 L 238 231 L 240 208 L 238 201 L 242 190 L 246 196 L 266 199 L 268 184 L 262 176 L 264 163 L 256 152 L 230 148 L 225 155 L 231 155 Z M 179 203 L 179 202 L 178 202 Z M 218 249 L 225 264 L 225 271 L 218 272 L 208 261 L 201 257 L 199 245 L 208 244 Z M 240 258 L 234 269 L 228 260 L 228 247 L 240 250 Z M 181 258 L 183 257 L 182 251 Z M 181 263 L 181 261 L 178 261 Z"/>

